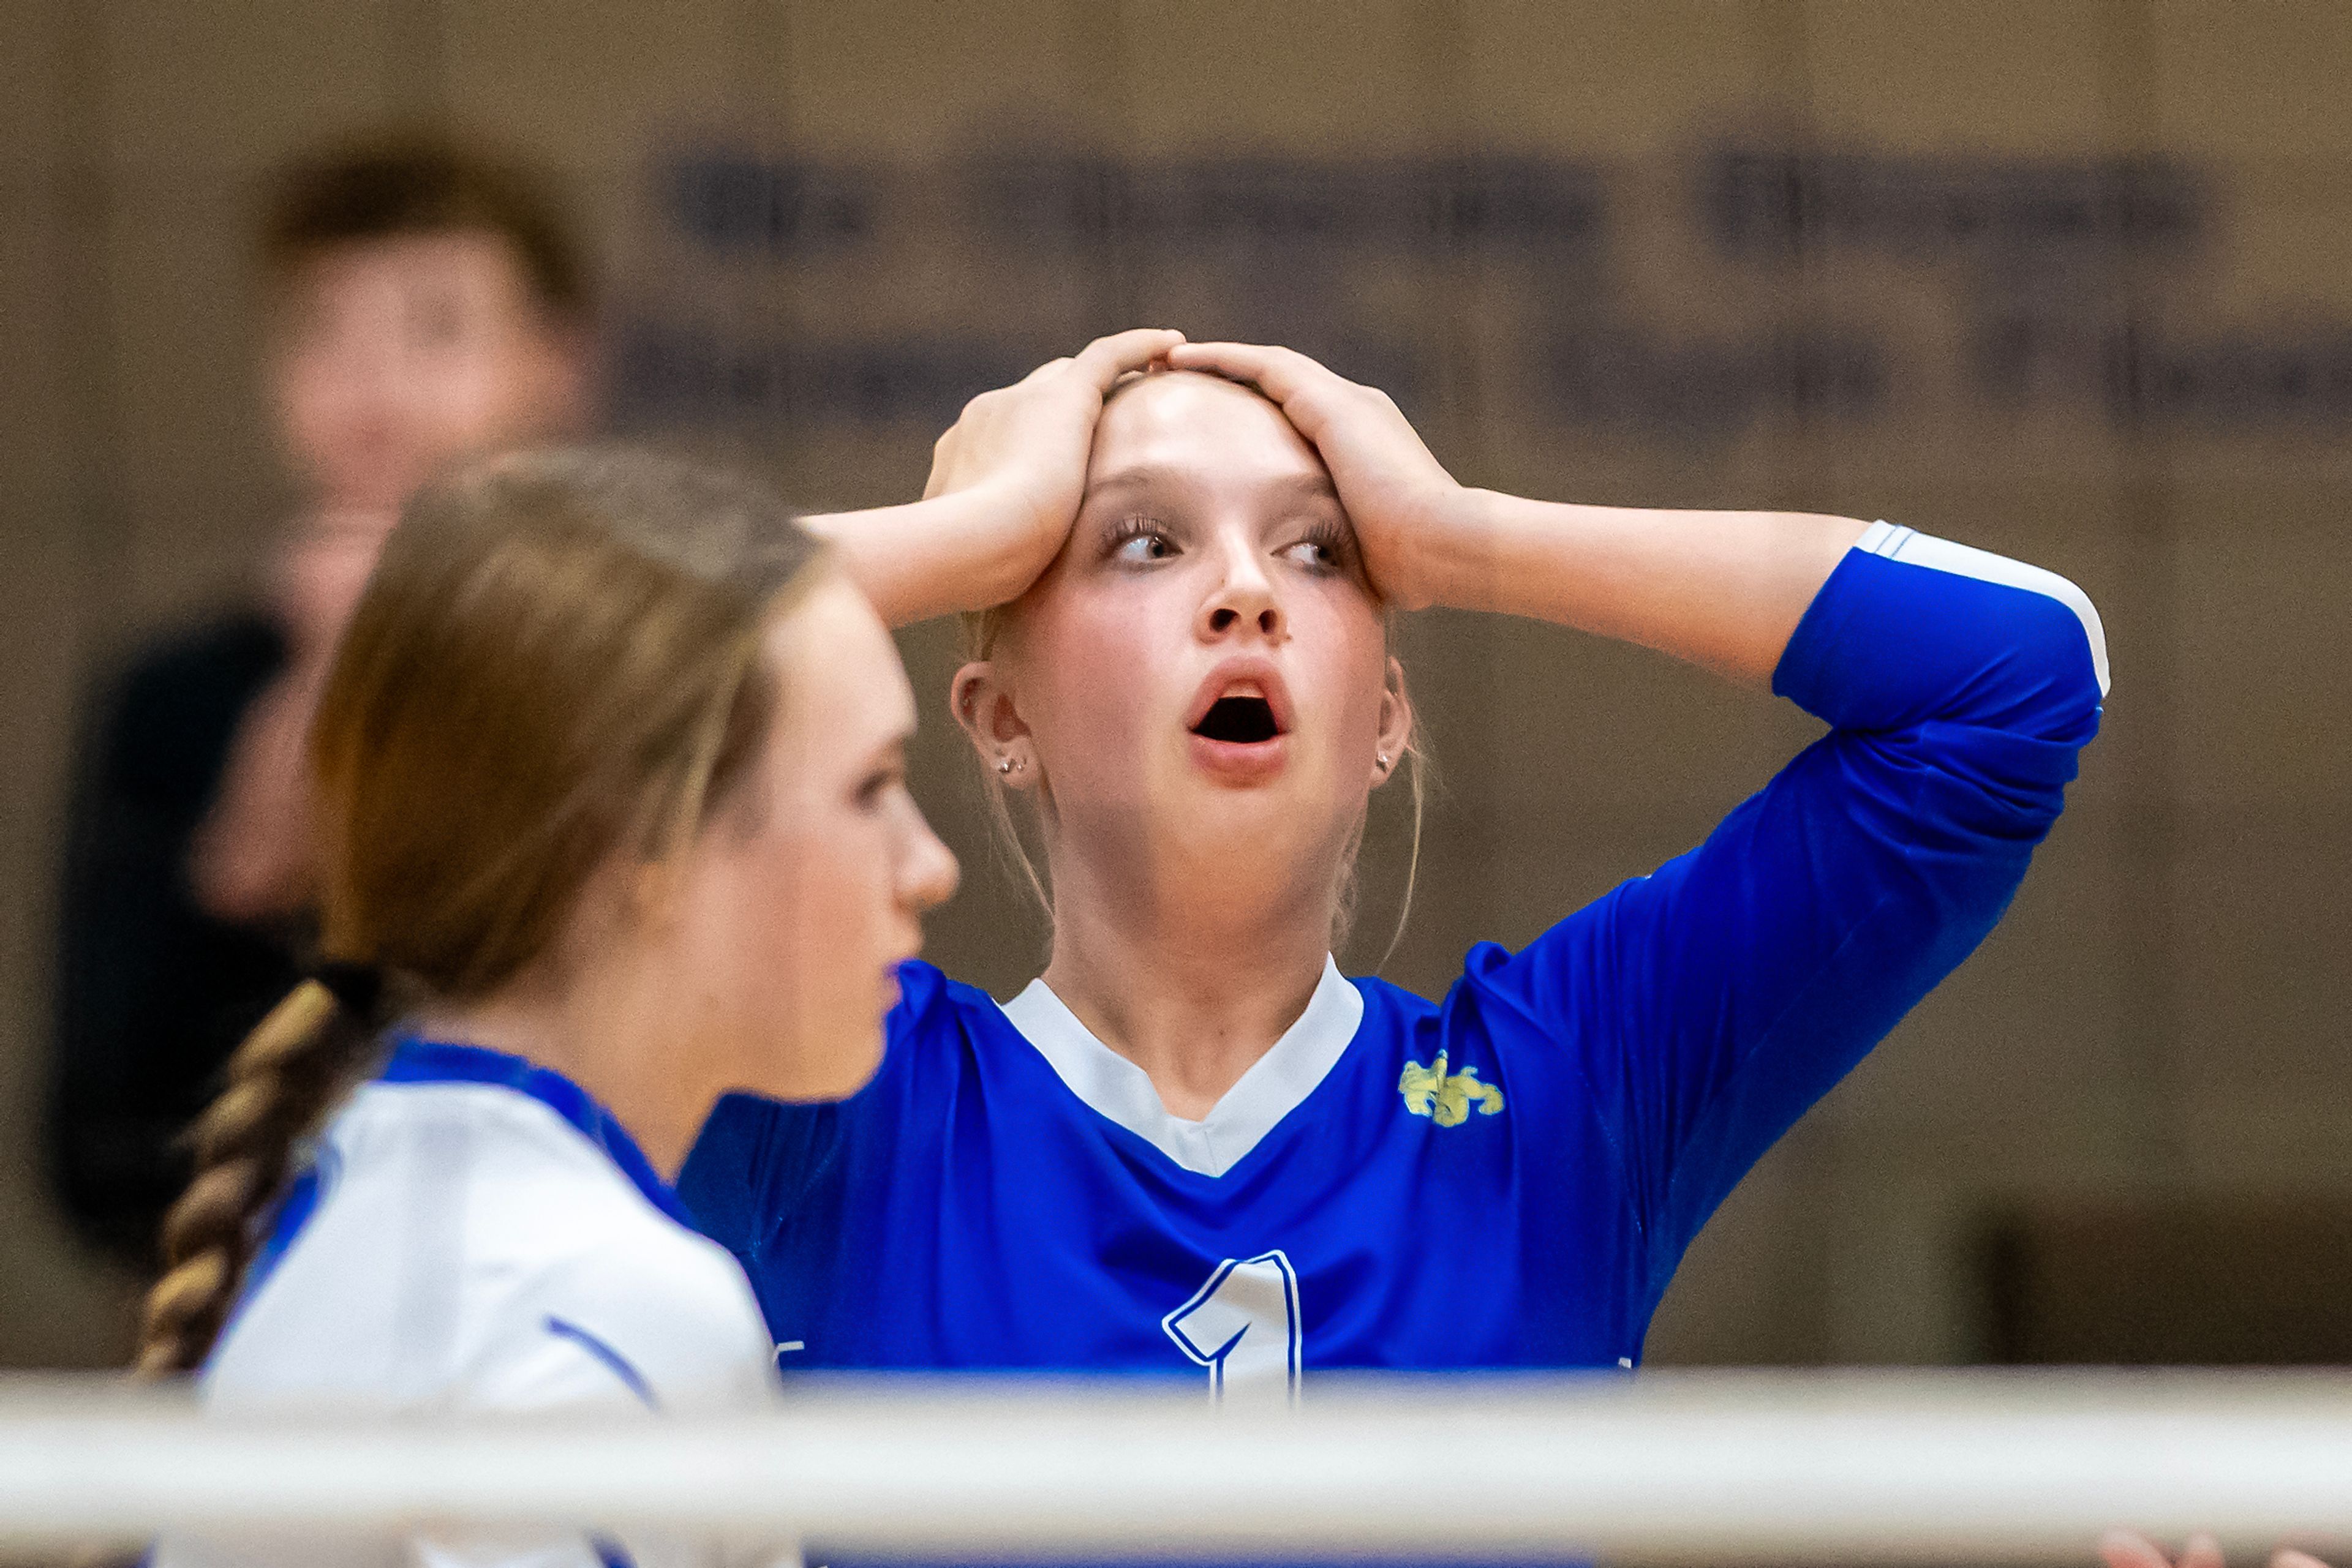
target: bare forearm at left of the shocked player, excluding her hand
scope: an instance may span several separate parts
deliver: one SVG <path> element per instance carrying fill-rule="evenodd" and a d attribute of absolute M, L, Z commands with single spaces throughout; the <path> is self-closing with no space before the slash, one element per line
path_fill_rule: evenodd
<path fill-rule="evenodd" d="M 891 628 L 1004 604 L 1035 576 L 1004 524 L 1004 501 L 978 489 L 800 522 L 833 545 Z"/>

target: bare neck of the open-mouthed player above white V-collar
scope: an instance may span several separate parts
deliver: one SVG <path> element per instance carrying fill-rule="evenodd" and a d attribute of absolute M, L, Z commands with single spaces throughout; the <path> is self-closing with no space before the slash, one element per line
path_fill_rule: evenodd
<path fill-rule="evenodd" d="M 1171 1117 L 1200 1121 L 1315 997 L 1336 879 L 1207 905 L 1200 891 L 1221 877 L 1174 882 L 1181 896 L 1152 898 L 1131 879 L 1056 865 L 1044 983 L 1096 1039 L 1143 1067 Z"/>

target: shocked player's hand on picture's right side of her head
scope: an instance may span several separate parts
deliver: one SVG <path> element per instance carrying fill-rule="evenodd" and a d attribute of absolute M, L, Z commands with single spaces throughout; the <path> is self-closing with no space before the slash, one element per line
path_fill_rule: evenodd
<path fill-rule="evenodd" d="M 1437 536 L 1461 522 L 1468 491 L 1388 393 L 1263 343 L 1178 343 L 1167 362 L 1265 393 L 1331 470 L 1381 597 L 1404 609 L 1437 599 L 1425 559 Z"/>

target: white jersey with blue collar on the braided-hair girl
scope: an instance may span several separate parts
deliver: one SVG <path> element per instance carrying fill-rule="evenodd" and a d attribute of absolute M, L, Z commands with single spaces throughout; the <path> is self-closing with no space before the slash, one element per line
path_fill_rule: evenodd
<path fill-rule="evenodd" d="M 569 1079 L 405 1041 L 334 1117 L 202 1373 L 212 1410 L 741 1410 L 774 1347 L 724 1248 Z M 167 1542 L 158 1568 L 280 1552 Z M 430 1537 L 303 1561 L 640 1568 L 675 1542 Z"/>

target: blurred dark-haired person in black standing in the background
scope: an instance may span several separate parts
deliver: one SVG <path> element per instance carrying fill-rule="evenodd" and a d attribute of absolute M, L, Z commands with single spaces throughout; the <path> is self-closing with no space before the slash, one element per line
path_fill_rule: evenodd
<path fill-rule="evenodd" d="M 433 141 L 282 169 L 259 223 L 263 386 L 299 510 L 261 602 L 139 654 L 96 710 L 66 839 L 49 1168 L 134 1269 L 181 1131 L 299 976 L 301 736 L 402 503 L 452 461 L 576 430 L 590 292 L 527 174 Z"/>

